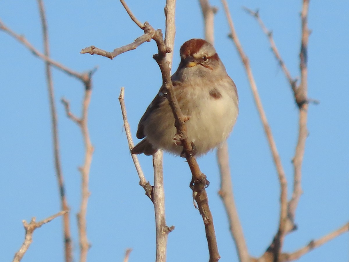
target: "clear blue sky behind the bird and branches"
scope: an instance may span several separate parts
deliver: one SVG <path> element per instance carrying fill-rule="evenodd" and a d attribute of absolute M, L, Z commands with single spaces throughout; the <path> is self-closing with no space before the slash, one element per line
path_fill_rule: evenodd
<path fill-rule="evenodd" d="M 164 1 L 127 1 L 140 21 L 164 29 Z M 220 1 L 215 16 L 215 47 L 239 93 L 239 117 L 228 140 L 236 204 L 248 249 L 260 256 L 277 229 L 279 183 L 250 87 L 235 47 L 227 37 L 228 25 Z M 95 146 L 88 204 L 89 261 L 122 261 L 133 248 L 130 261 L 154 261 L 154 209 L 129 154 L 118 101 L 125 87 L 125 103 L 132 132 L 161 85 L 161 74 L 151 58 L 154 42 L 114 60 L 80 54 L 95 45 L 112 51 L 142 34 L 119 1 L 45 2 L 51 56 L 79 72 L 95 66 L 89 110 L 89 130 Z M 292 77 L 299 76 L 301 1 L 234 1 L 230 3 L 240 42 L 252 71 L 289 181 L 291 194 L 298 109 L 290 87 L 257 22 L 242 6 L 260 9 Z M 320 101 L 309 107 L 309 137 L 303 162 L 303 195 L 296 212 L 298 230 L 285 239 L 284 251 L 292 252 L 310 240 L 335 230 L 349 218 L 349 2 L 311 1 L 309 28 L 309 97 Z M 0 1 L 0 19 L 42 50 L 36 1 Z M 173 68 L 179 64 L 179 48 L 190 38 L 202 38 L 198 1 L 178 1 Z M 53 167 L 49 103 L 44 63 L 21 44 L 0 32 L 0 260 L 11 261 L 21 246 L 22 220 L 41 220 L 60 210 Z M 80 205 L 80 173 L 83 143 L 79 128 L 66 118 L 60 98 L 70 101 L 80 115 L 83 87 L 79 81 L 53 70 L 63 174 L 66 182 L 78 260 L 79 243 L 75 214 Z M 153 181 L 151 157 L 140 156 L 146 178 Z M 227 217 L 217 191 L 220 187 L 215 152 L 199 164 L 210 181 L 207 189 L 214 217 L 220 261 L 237 261 Z M 168 261 L 207 261 L 205 231 L 192 204 L 188 187 L 191 174 L 179 157 L 164 155 L 166 222 L 176 228 L 168 239 Z M 349 260 L 348 233 L 306 254 L 299 261 Z M 23 261 L 62 261 L 61 221 L 55 219 L 34 233 L 34 242 Z"/>

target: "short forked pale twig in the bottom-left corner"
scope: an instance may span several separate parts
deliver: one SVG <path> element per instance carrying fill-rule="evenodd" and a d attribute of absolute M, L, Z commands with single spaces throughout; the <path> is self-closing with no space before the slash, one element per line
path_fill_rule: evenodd
<path fill-rule="evenodd" d="M 33 233 L 34 233 L 34 230 L 36 230 L 36 228 L 41 227 L 43 224 L 49 223 L 52 219 L 55 219 L 56 217 L 62 216 L 66 213 L 68 213 L 68 210 L 60 211 L 51 217 L 41 220 L 40 222 L 35 222 L 35 217 L 33 217 L 29 224 L 27 223 L 27 221 L 23 220 L 23 225 L 25 229 L 25 238 L 21 248 L 15 254 L 13 262 L 21 261 L 25 252 L 27 252 L 31 242 L 33 241 Z"/>

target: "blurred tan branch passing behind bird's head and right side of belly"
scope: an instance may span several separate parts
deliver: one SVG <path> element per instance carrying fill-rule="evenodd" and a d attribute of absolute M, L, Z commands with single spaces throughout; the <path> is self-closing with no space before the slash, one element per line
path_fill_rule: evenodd
<path fill-rule="evenodd" d="M 200 0 L 200 5 L 204 19 L 206 41 L 214 44 L 214 14 L 216 13 L 217 8 L 210 6 L 208 0 Z M 225 211 L 228 215 L 229 228 L 235 242 L 239 261 L 249 262 L 251 258 L 248 254 L 244 233 L 232 191 L 227 141 L 224 141 L 224 143 L 217 148 L 217 162 L 221 176 L 221 189 L 218 194 L 222 198 Z"/>

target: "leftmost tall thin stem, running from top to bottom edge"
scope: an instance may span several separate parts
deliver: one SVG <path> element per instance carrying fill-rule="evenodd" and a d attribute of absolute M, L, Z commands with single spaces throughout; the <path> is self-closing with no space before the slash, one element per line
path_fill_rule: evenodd
<path fill-rule="evenodd" d="M 45 56 L 50 56 L 50 46 L 49 46 L 49 36 L 47 33 L 47 22 L 46 14 L 44 9 L 44 4 L 42 0 L 38 0 L 42 31 L 43 31 L 43 41 Z M 61 198 L 61 209 L 68 210 L 68 202 L 65 193 L 64 179 L 61 169 L 60 152 L 59 152 L 59 138 L 58 138 L 58 126 L 57 126 L 57 110 L 54 102 L 54 88 L 52 82 L 51 65 L 48 61 L 45 63 L 46 70 L 46 82 L 50 101 L 50 111 L 51 111 L 51 124 L 52 124 L 52 137 L 53 137 L 53 154 L 54 154 L 54 165 L 56 176 L 58 180 L 58 187 Z M 63 234 L 64 234 L 64 246 L 65 246 L 65 261 L 72 261 L 72 241 L 70 236 L 70 226 L 69 226 L 69 213 L 65 212 L 63 215 Z"/>

